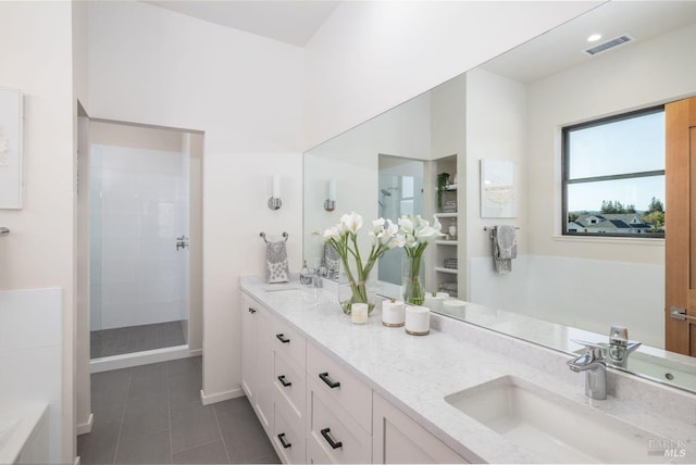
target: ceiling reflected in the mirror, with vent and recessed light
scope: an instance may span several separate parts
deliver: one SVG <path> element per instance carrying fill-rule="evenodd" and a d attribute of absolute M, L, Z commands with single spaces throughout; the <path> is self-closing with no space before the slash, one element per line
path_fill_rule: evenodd
<path fill-rule="evenodd" d="M 481 67 L 521 83 L 533 83 L 570 70 L 611 50 L 589 56 L 583 50 L 623 34 L 639 43 L 696 22 L 696 1 L 611 1 L 504 53 Z M 594 43 L 591 34 L 601 34 Z M 621 49 L 621 48 L 617 48 Z M 667 52 L 667 51 L 666 51 Z"/>

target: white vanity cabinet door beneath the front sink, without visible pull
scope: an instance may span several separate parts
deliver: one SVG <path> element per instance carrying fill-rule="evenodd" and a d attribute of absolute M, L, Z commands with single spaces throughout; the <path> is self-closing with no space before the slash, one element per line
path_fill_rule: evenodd
<path fill-rule="evenodd" d="M 372 405 L 373 463 L 469 463 L 376 392 Z"/>

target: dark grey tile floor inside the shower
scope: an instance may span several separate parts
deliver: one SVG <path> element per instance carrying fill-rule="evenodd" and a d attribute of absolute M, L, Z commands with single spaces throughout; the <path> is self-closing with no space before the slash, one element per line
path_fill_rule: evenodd
<path fill-rule="evenodd" d="M 89 356 L 120 355 L 146 350 L 171 348 L 186 343 L 184 321 L 100 329 L 89 332 Z"/>

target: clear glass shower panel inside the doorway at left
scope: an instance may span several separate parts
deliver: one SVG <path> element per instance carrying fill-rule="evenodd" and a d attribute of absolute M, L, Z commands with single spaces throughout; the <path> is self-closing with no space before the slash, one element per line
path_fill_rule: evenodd
<path fill-rule="evenodd" d="M 185 146 L 90 148 L 91 359 L 187 343 Z"/>

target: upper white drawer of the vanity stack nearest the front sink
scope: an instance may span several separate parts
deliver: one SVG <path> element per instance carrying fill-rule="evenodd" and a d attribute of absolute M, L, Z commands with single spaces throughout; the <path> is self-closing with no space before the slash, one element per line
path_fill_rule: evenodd
<path fill-rule="evenodd" d="M 307 378 L 372 432 L 372 389 L 313 344 L 307 344 Z"/>

